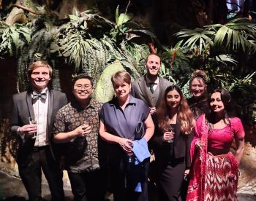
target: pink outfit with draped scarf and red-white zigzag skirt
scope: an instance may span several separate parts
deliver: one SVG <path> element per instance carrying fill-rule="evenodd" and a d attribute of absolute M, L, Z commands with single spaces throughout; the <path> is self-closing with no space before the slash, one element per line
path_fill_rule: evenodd
<path fill-rule="evenodd" d="M 241 120 L 238 118 L 230 119 L 230 125 L 222 129 L 222 142 L 219 148 L 223 146 L 230 149 L 233 138 L 243 138 L 244 128 Z M 211 130 L 209 136 L 209 127 L 206 123 L 205 115 L 197 119 L 195 125 L 195 138 L 191 144 L 192 170 L 190 170 L 190 181 L 187 193 L 187 200 L 237 200 L 236 190 L 238 182 L 238 162 L 230 152 L 219 156 L 208 154 L 208 146 L 216 145 L 217 134 L 221 130 Z M 231 140 L 232 138 L 232 140 Z M 212 139 L 216 141 L 211 142 Z M 201 141 L 206 144 L 203 149 L 196 149 L 195 143 Z M 220 140 L 221 141 L 221 140 Z M 231 143 L 230 143 L 231 141 Z M 219 179 L 218 179 L 219 178 Z"/>

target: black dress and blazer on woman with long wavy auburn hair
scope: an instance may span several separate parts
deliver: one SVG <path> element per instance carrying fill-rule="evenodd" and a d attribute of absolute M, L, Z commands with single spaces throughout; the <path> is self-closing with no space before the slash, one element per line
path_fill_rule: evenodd
<path fill-rule="evenodd" d="M 175 130 L 173 143 L 162 140 L 163 133 L 156 126 L 153 146 L 157 165 L 157 191 L 159 200 L 181 200 L 184 171 L 190 167 L 189 149 L 192 135 L 181 133 L 181 125 L 171 125 Z"/>

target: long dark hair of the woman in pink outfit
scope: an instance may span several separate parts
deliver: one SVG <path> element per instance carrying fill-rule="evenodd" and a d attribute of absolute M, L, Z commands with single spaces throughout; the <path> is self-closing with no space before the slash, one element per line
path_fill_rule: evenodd
<path fill-rule="evenodd" d="M 211 103 L 211 95 L 214 93 L 214 92 L 219 92 L 220 93 L 220 97 L 222 99 L 222 103 L 224 105 L 224 112 L 225 112 L 225 122 L 227 122 L 227 124 L 230 124 L 230 120 L 229 118 L 232 116 L 232 110 L 231 110 L 231 95 L 230 93 L 225 90 L 224 88 L 221 88 L 221 89 L 215 89 L 213 90 L 211 93 L 210 93 L 210 98 L 209 98 L 209 106 L 210 106 L 210 103 Z M 211 108 L 211 106 L 210 106 Z M 214 111 L 211 110 L 210 114 L 207 115 L 207 119 L 209 122 L 214 122 L 214 119 L 215 119 L 215 113 Z"/>

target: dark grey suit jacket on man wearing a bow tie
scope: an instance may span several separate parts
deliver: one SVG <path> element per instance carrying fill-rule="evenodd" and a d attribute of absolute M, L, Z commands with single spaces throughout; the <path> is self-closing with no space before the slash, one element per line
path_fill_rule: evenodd
<path fill-rule="evenodd" d="M 51 144 L 51 130 L 53 127 L 53 121 L 55 115 L 59 109 L 67 104 L 67 97 L 64 93 L 49 90 L 49 101 L 48 101 L 48 137 L 50 143 L 50 150 L 53 155 L 53 149 Z M 23 125 L 29 125 L 29 117 L 34 116 L 34 109 L 32 105 L 31 92 L 20 92 L 12 96 L 12 122 L 11 132 L 16 135 L 20 141 L 18 150 L 17 163 L 18 165 L 26 166 L 31 158 L 31 154 L 34 147 L 35 139 L 26 137 L 22 139 L 20 134 L 17 132 L 18 127 Z M 54 155 L 53 155 L 53 158 Z"/>

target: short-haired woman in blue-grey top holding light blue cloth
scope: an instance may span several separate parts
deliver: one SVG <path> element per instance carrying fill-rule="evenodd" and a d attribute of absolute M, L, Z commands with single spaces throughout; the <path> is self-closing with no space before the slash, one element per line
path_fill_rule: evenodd
<path fill-rule="evenodd" d="M 118 71 L 111 81 L 116 97 L 102 106 L 99 135 L 110 144 L 108 165 L 114 200 L 147 201 L 147 142 L 154 133 L 150 109 L 129 95 L 131 77 L 127 71 Z M 142 127 L 145 132 L 140 132 Z"/>

